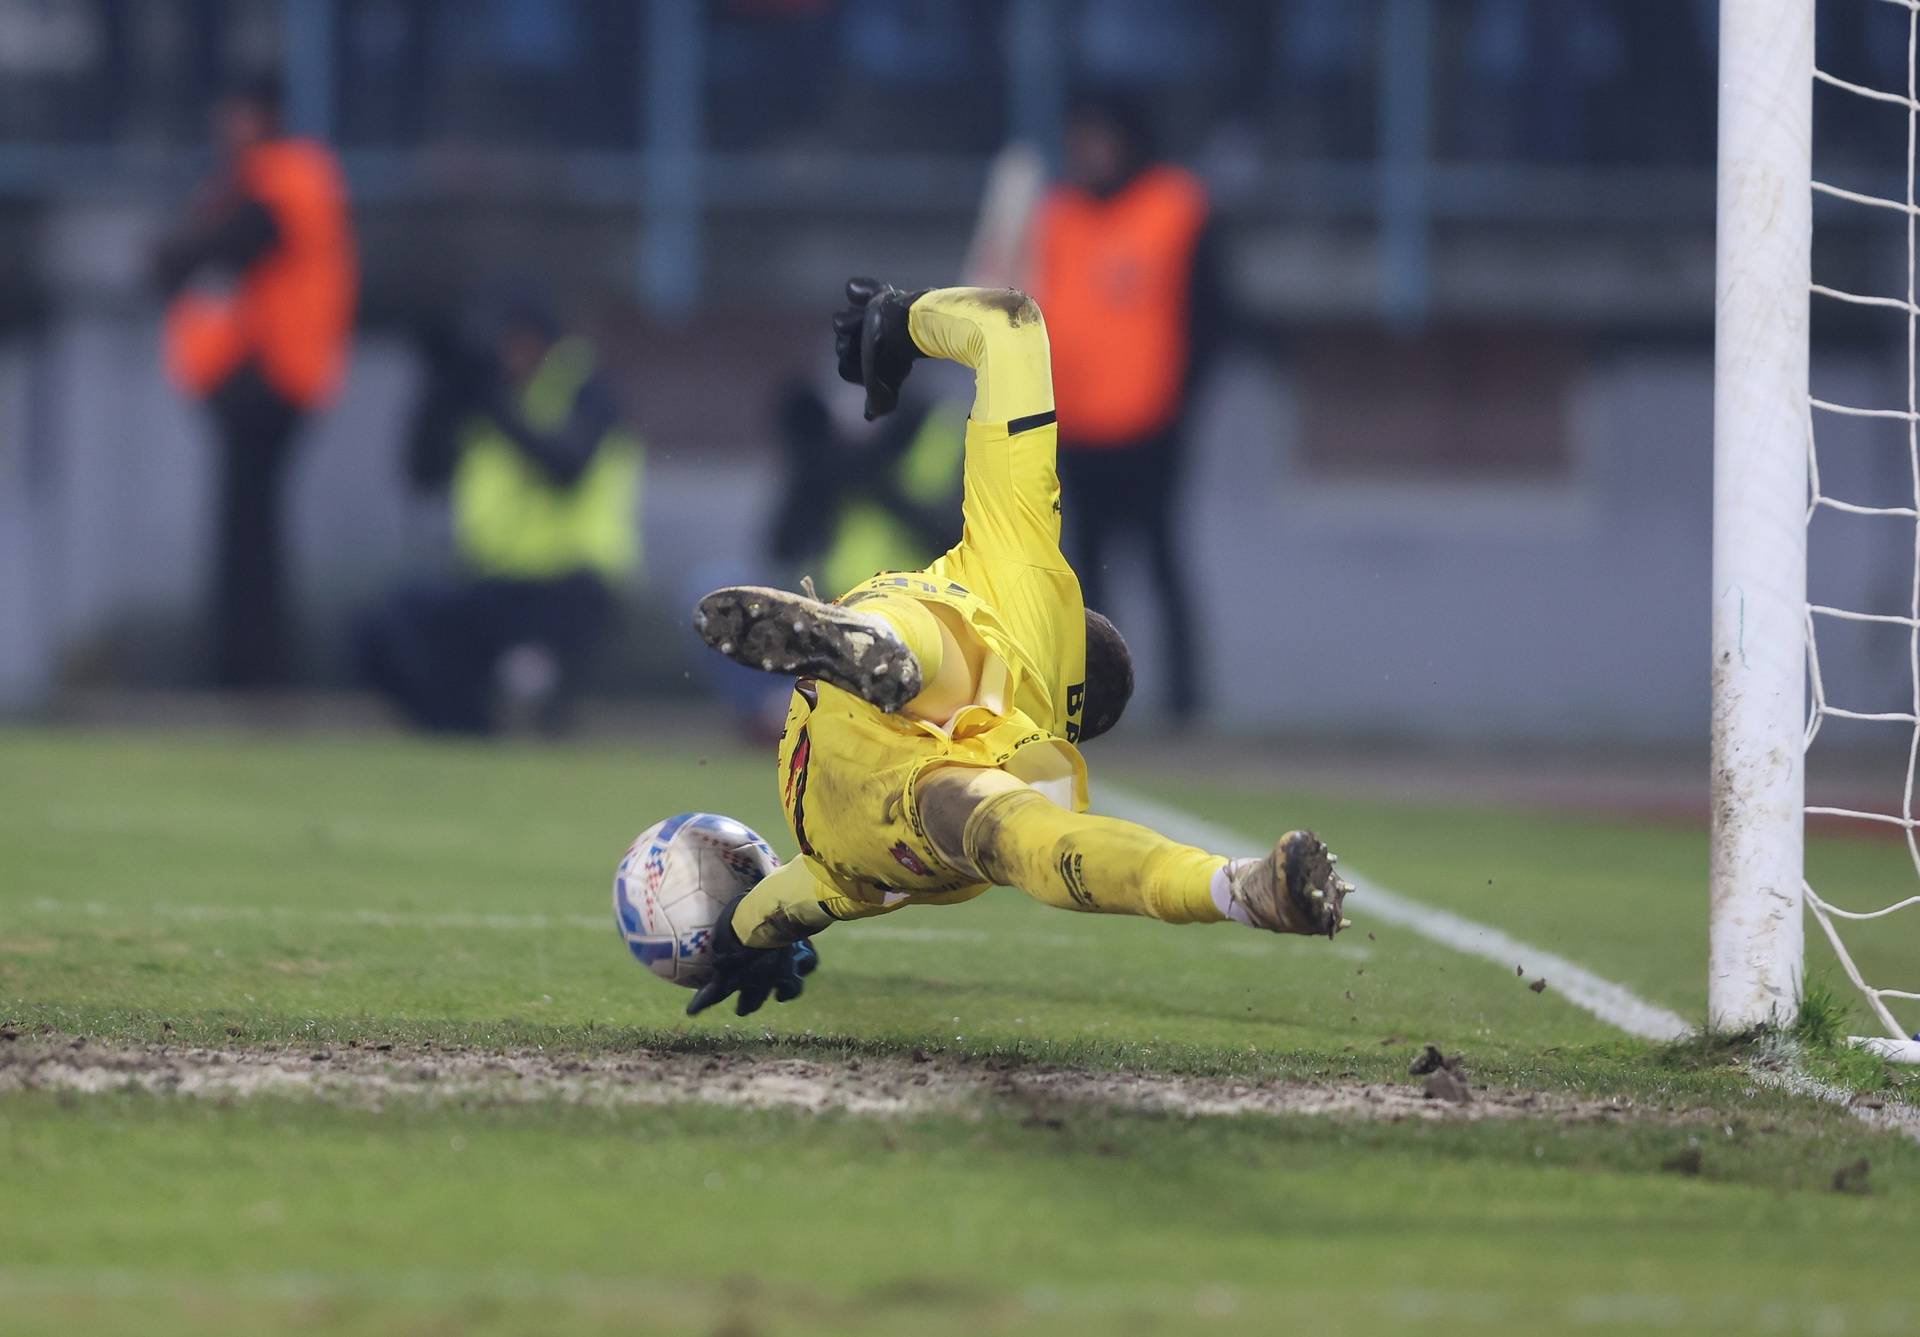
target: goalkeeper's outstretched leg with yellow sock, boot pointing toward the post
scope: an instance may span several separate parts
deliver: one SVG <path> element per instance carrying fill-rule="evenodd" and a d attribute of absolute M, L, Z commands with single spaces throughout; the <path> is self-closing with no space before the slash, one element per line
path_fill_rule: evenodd
<path fill-rule="evenodd" d="M 918 803 L 948 864 L 1060 909 L 1327 937 L 1346 926 L 1350 887 L 1311 832 L 1288 832 L 1265 859 L 1225 859 L 1135 822 L 1069 813 L 1004 770 L 966 766 L 931 770 Z"/>

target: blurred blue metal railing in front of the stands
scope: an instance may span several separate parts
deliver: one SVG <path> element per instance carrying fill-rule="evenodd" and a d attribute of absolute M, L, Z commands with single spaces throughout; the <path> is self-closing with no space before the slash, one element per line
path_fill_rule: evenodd
<path fill-rule="evenodd" d="M 902 215 L 964 213 L 977 198 L 981 154 L 860 152 L 816 146 L 728 150 L 708 133 L 708 71 L 720 6 L 703 0 L 634 0 L 630 52 L 637 96 L 614 138 L 632 148 L 503 148 L 476 142 L 372 146 L 344 142 L 357 198 L 396 202 L 463 192 L 540 194 L 632 207 L 637 217 L 634 292 L 655 313 L 687 311 L 703 292 L 705 221 L 714 209 L 885 207 Z M 1596 0 L 1609 4 L 1613 0 Z M 1620 0 L 1638 4 L 1642 0 Z M 1361 0 L 1340 0 L 1348 23 Z M 417 21 L 445 23 L 445 4 L 415 4 Z M 1290 0 L 1248 6 L 1269 25 L 1311 8 Z M 824 12 L 829 10 L 824 6 Z M 278 50 L 296 131 L 334 138 L 348 108 L 340 90 L 359 77 L 342 50 L 349 0 L 280 0 Z M 586 10 L 580 10 L 584 13 Z M 981 10 L 983 13 L 987 10 Z M 1323 13 L 1327 10 L 1321 0 Z M 465 12 L 463 12 L 465 13 Z M 1006 134 L 1054 152 L 1073 69 L 1073 25 L 1087 10 L 1068 0 L 1018 0 L 998 23 L 1000 123 Z M 1244 17 L 1242 13 L 1242 17 Z M 1371 148 L 1350 159 L 1260 154 L 1223 207 L 1240 217 L 1340 219 L 1375 229 L 1382 319 L 1417 327 L 1432 304 L 1436 229 L 1453 219 L 1551 225 L 1557 221 L 1711 223 L 1711 167 L 1567 163 L 1463 163 L 1444 156 L 1438 102 L 1469 0 L 1371 0 L 1371 50 L 1342 60 L 1371 94 Z M 426 17 L 420 17 L 426 15 Z M 438 17 L 434 17 L 438 15 Z M 1354 21 L 1357 23 L 1357 21 Z M 1267 31 L 1267 29 L 1261 29 Z M 1292 29 L 1284 29 L 1294 35 Z M 1361 27 L 1344 27 L 1346 40 Z M 1298 35 L 1294 35 L 1298 36 Z M 1279 38 L 1263 60 L 1281 60 Z M 622 56 L 622 60 L 628 60 Z M 831 79 L 831 71 L 822 79 Z M 177 136 L 175 136 L 177 138 Z M 180 188 L 202 171 L 202 150 L 148 138 L 115 144 L 0 142 L 0 190 L 27 196 Z"/>

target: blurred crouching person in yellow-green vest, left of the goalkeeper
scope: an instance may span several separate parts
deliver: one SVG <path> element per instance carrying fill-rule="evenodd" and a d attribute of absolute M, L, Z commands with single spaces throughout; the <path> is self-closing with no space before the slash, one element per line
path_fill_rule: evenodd
<path fill-rule="evenodd" d="M 363 676 L 420 728 L 486 734 L 499 707 L 559 730 L 639 561 L 639 442 L 593 346 L 515 298 L 492 328 L 428 342 L 407 474 L 445 488 L 461 571 L 355 636 Z"/>

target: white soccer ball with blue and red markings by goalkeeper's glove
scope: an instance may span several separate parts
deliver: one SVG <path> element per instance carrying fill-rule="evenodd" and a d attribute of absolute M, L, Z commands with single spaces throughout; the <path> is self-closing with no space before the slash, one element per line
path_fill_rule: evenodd
<path fill-rule="evenodd" d="M 749 826 L 682 813 L 643 830 L 612 874 L 612 920 L 634 960 L 697 989 L 712 974 L 708 943 L 720 911 L 780 866 Z"/>

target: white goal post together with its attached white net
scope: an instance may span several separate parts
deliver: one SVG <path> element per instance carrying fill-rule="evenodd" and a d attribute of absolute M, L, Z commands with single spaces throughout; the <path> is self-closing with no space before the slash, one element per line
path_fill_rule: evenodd
<path fill-rule="evenodd" d="M 1893 6 L 1907 17 L 1907 86 L 1870 88 L 1816 65 L 1818 4 Z M 1718 273 L 1715 284 L 1713 444 L 1713 861 L 1707 1020 L 1715 1030 L 1791 1022 L 1803 989 L 1811 912 L 1862 991 L 1882 1035 L 1876 1051 L 1920 1060 L 1889 999 L 1920 999 L 1868 984 L 1841 924 L 1920 914 L 1920 895 L 1891 907 L 1841 909 L 1805 880 L 1805 755 L 1826 718 L 1907 730 L 1907 784 L 1897 813 L 1814 809 L 1901 828 L 1920 870 L 1914 765 L 1920 759 L 1920 532 L 1912 601 L 1905 611 L 1809 605 L 1807 528 L 1822 507 L 1920 528 L 1920 401 L 1914 355 L 1914 136 L 1920 90 L 1914 46 L 1920 0 L 1720 0 Z M 1905 198 L 1862 194 L 1814 177 L 1812 90 L 1893 104 L 1907 115 Z M 1812 273 L 1814 194 L 1849 207 L 1891 209 L 1907 225 L 1905 294 L 1828 288 Z M 1812 398 L 1811 304 L 1851 302 L 1907 321 L 1907 401 L 1839 405 Z M 1914 494 L 1884 503 L 1826 498 L 1818 486 L 1816 417 L 1853 415 L 1905 430 Z M 1847 709 L 1826 699 L 1816 622 L 1847 619 L 1903 626 L 1912 701 L 1901 713 Z M 1811 674 L 1809 674 L 1811 668 Z M 1811 688 L 1811 693 L 1809 693 Z M 1891 805 L 1889 805 L 1891 807 Z M 1828 891 L 1834 891 L 1832 887 Z M 1920 884 L 1916 884 L 1920 891 Z M 1864 932 L 1864 930 L 1862 930 Z M 1908 985 L 1920 985 L 1920 960 Z"/>

